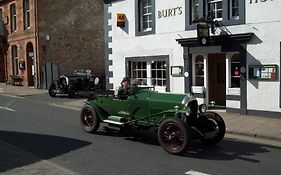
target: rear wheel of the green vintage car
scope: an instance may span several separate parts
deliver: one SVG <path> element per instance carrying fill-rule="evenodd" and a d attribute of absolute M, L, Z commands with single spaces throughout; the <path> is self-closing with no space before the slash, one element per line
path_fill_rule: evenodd
<path fill-rule="evenodd" d="M 80 123 L 84 131 L 95 133 L 99 129 L 100 119 L 91 106 L 85 105 L 81 110 Z"/>

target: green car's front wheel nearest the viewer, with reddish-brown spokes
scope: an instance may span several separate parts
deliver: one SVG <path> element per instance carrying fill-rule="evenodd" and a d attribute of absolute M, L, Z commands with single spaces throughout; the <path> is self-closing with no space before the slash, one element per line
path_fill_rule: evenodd
<path fill-rule="evenodd" d="M 190 129 L 180 119 L 167 119 L 158 128 L 158 140 L 168 153 L 181 154 L 190 145 Z"/>

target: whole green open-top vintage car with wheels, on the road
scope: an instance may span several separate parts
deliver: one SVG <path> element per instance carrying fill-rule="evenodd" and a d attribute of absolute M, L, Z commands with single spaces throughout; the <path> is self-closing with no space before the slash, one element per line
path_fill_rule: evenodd
<path fill-rule="evenodd" d="M 225 123 L 215 112 L 198 106 L 192 94 L 159 93 L 149 87 L 134 87 L 129 95 L 92 95 L 81 110 L 80 122 L 88 133 L 100 123 L 109 130 L 155 128 L 160 145 L 171 154 L 181 154 L 193 139 L 216 144 L 225 134 Z M 133 132 L 132 132 L 133 133 Z"/>

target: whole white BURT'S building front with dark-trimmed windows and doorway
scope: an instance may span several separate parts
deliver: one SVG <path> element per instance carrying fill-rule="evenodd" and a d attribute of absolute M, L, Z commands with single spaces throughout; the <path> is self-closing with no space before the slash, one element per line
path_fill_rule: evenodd
<path fill-rule="evenodd" d="M 129 76 L 229 112 L 280 117 L 280 7 L 278 0 L 105 1 L 107 87 Z M 197 32 L 202 22 L 209 37 Z"/>

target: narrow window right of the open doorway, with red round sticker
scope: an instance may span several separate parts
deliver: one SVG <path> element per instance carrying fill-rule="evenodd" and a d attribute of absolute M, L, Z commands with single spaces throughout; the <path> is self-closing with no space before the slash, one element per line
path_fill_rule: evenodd
<path fill-rule="evenodd" d="M 231 57 L 231 88 L 240 87 L 240 55 Z"/>

